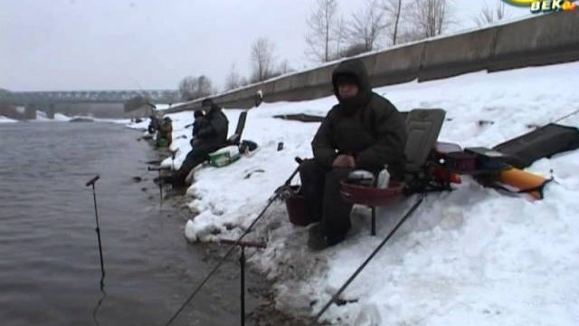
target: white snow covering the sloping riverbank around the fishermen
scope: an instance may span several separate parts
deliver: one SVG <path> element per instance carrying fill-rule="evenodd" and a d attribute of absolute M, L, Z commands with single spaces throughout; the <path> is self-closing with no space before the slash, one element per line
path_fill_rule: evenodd
<path fill-rule="evenodd" d="M 574 62 L 375 91 L 399 110 L 446 110 L 442 141 L 492 147 L 576 110 L 579 93 L 562 85 L 579 84 L 577 72 L 579 62 Z M 272 116 L 325 115 L 335 103 L 328 97 L 250 110 L 242 138 L 261 149 L 226 168 L 196 173 L 188 191 L 199 215 L 187 222 L 187 238 L 240 235 L 297 168 L 293 158 L 311 157 L 309 142 L 318 123 Z M 240 111 L 225 111 L 230 134 Z M 183 127 L 193 114 L 171 117 L 178 167 L 190 149 L 190 129 Z M 561 123 L 577 127 L 579 115 Z M 280 141 L 284 149 L 277 151 Z M 508 197 L 468 177 L 456 191 L 429 195 L 344 292 L 346 304 L 332 306 L 323 318 L 344 325 L 579 324 L 579 151 L 539 160 L 529 170 L 555 177 L 545 200 Z M 283 204 L 275 204 L 250 234 L 268 242 L 266 250 L 252 255 L 252 263 L 275 282 L 280 310 L 316 313 L 414 200 L 378 210 L 376 237 L 370 236 L 368 210 L 356 206 L 346 241 L 320 253 L 308 251 L 307 229 L 290 225 Z"/>

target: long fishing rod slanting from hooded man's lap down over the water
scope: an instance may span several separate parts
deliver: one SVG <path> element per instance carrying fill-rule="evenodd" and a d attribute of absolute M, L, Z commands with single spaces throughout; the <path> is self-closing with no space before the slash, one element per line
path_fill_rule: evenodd
<path fill-rule="evenodd" d="M 298 162 L 298 164 L 301 164 L 302 159 L 301 158 L 295 158 L 296 162 Z M 260 214 L 255 217 L 255 219 L 253 219 L 252 224 L 245 230 L 245 232 L 243 232 L 243 234 L 237 238 L 236 241 L 233 242 L 233 245 L 231 246 L 231 248 L 227 251 L 227 253 L 225 253 L 222 257 L 222 259 L 219 261 L 219 263 L 217 263 L 214 268 L 211 270 L 211 272 L 209 272 L 207 274 L 207 276 L 205 276 L 204 280 L 199 283 L 199 285 L 197 285 L 197 287 L 195 288 L 195 290 L 191 293 L 191 295 L 189 295 L 189 297 L 187 298 L 187 300 L 185 300 L 185 302 L 183 302 L 183 304 L 181 305 L 181 307 L 179 307 L 179 309 L 177 309 L 177 311 L 173 314 L 173 316 L 171 316 L 171 318 L 169 319 L 169 321 L 166 322 L 165 326 L 169 326 L 171 325 L 171 323 L 173 323 L 173 321 L 176 320 L 177 316 L 183 312 L 183 310 L 185 309 L 186 305 L 189 304 L 189 302 L 191 302 L 191 300 L 193 300 L 193 298 L 195 298 L 195 295 L 201 290 L 201 288 L 203 288 L 204 284 L 207 283 L 207 281 L 209 281 L 209 279 L 214 275 L 214 273 L 217 272 L 217 270 L 223 265 L 223 263 L 225 263 L 225 261 L 227 260 L 227 258 L 229 258 L 229 256 L 233 253 L 233 250 L 235 250 L 235 248 L 242 244 L 242 239 L 243 237 L 245 237 L 245 235 L 249 234 L 250 231 L 252 231 L 252 227 L 254 225 L 256 225 L 261 217 L 265 214 L 265 212 L 268 210 L 268 208 L 270 208 L 271 204 L 273 204 L 273 202 L 275 200 L 277 200 L 280 197 L 286 196 L 287 192 L 289 191 L 289 183 L 291 182 L 291 179 L 293 179 L 293 177 L 296 176 L 296 174 L 298 174 L 299 172 L 299 167 L 296 168 L 293 173 L 291 174 L 291 176 L 289 176 L 289 178 L 286 180 L 286 182 L 281 186 L 278 187 L 274 193 L 273 196 L 271 196 L 268 199 L 267 205 L 265 207 L 263 207 L 263 209 L 261 210 Z"/>

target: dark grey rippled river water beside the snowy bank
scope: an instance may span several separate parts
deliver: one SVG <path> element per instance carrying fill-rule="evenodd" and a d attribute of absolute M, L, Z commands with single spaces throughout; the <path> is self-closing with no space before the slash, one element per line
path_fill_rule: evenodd
<path fill-rule="evenodd" d="M 213 267 L 185 241 L 187 211 L 160 205 L 147 172 L 158 157 L 138 136 L 112 123 L 0 125 L 0 324 L 164 325 Z M 106 295 L 85 187 L 95 175 Z M 174 325 L 239 324 L 239 266 L 222 270 Z"/>

